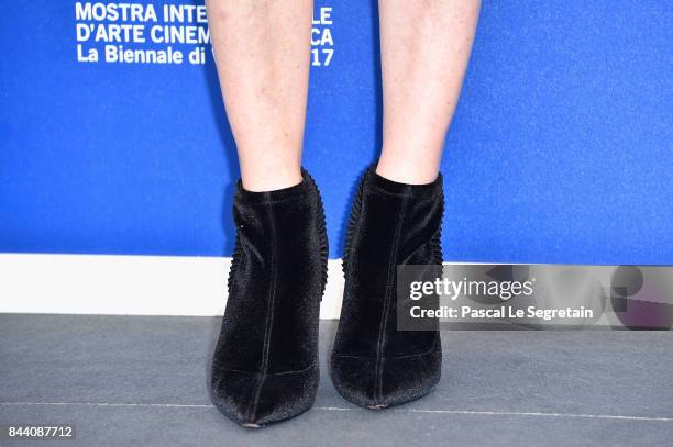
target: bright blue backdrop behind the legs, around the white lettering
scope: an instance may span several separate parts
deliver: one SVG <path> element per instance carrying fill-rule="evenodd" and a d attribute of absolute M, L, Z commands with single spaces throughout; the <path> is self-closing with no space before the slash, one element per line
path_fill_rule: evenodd
<path fill-rule="evenodd" d="M 334 55 L 311 71 L 305 160 L 340 257 L 380 143 L 378 19 L 320 7 Z M 239 174 L 210 49 L 82 63 L 76 22 L 71 0 L 2 5 L 0 250 L 230 255 Z M 661 0 L 484 2 L 442 166 L 445 259 L 673 264 L 671 23 Z"/>

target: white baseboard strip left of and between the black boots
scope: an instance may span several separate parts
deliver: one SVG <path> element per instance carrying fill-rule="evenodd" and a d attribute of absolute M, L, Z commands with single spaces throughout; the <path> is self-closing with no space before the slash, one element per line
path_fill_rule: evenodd
<path fill-rule="evenodd" d="M 0 254 L 0 312 L 221 315 L 231 258 Z M 329 261 L 321 319 L 341 312 L 341 259 Z"/>

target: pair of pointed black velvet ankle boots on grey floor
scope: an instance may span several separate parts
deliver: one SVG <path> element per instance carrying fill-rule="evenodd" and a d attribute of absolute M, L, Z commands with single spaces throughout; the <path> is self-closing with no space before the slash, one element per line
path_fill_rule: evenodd
<path fill-rule="evenodd" d="M 327 283 L 324 212 L 313 179 L 234 197 L 236 243 L 212 361 L 213 403 L 247 427 L 307 411 L 316 399 L 318 321 Z M 330 373 L 349 401 L 384 409 L 439 382 L 438 331 L 397 331 L 398 265 L 441 264 L 441 176 L 405 185 L 364 175 L 343 256 L 344 297 Z"/>

